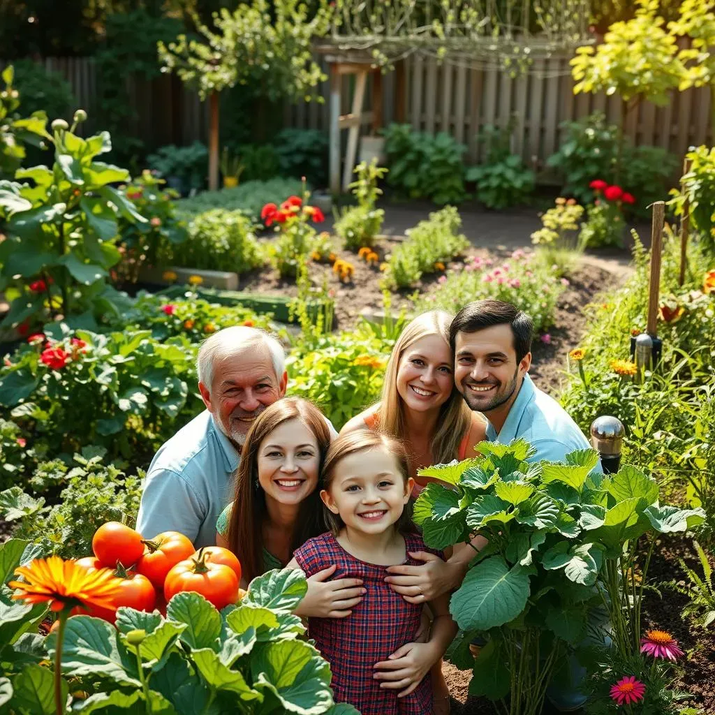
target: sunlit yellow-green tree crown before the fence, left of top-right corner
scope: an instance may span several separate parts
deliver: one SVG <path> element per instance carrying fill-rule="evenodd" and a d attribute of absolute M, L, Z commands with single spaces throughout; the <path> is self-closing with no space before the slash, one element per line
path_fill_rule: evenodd
<path fill-rule="evenodd" d="M 576 50 L 571 60 L 574 94 L 606 92 L 624 102 L 638 97 L 668 104 L 670 90 L 684 78 L 676 36 L 663 28 L 658 0 L 637 0 L 637 5 L 636 16 L 613 23 L 603 43 Z"/>

